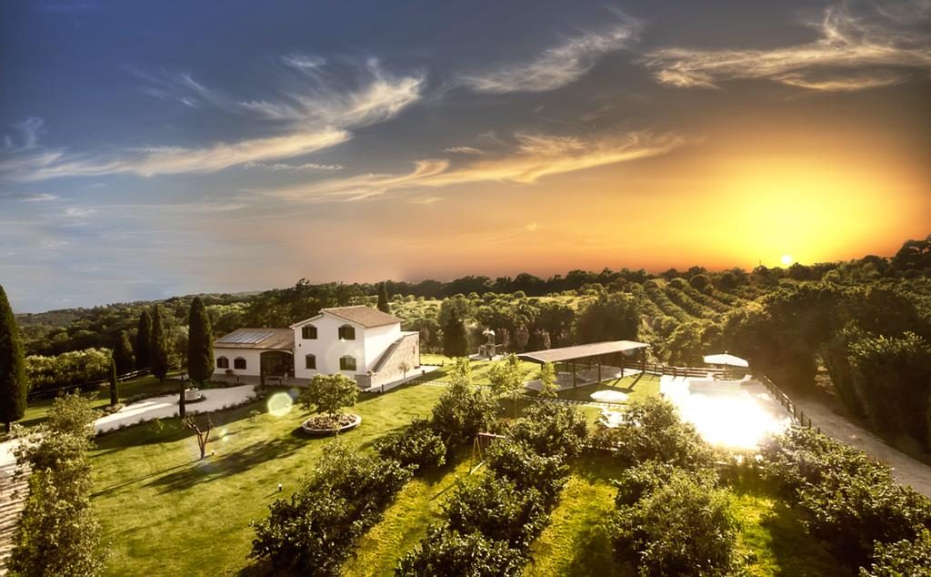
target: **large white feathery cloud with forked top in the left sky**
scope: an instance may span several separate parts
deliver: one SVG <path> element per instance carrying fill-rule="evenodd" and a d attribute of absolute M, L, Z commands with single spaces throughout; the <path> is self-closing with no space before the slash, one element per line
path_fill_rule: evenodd
<path fill-rule="evenodd" d="M 294 57 L 291 56 L 291 59 Z M 37 138 L 0 158 L 0 177 L 10 181 L 42 181 L 65 176 L 133 173 L 141 176 L 217 172 L 231 166 L 302 157 L 348 141 L 352 129 L 383 122 L 420 98 L 423 76 L 390 76 L 375 61 L 366 62 L 354 86 L 333 86 L 307 80 L 304 93 L 282 94 L 276 101 L 236 102 L 208 89 L 193 77 L 181 76 L 160 90 L 186 105 L 213 105 L 237 114 L 277 121 L 264 138 L 202 147 L 151 145 L 113 152 L 78 154 L 41 148 Z M 33 128 L 33 125 L 30 125 Z M 41 120 L 38 128 L 41 129 Z M 24 131 L 25 132 L 25 131 Z M 37 130 L 29 132 L 37 134 Z M 333 170 L 336 165 L 273 163 L 272 170 Z M 326 168 L 324 168 L 326 167 Z"/>

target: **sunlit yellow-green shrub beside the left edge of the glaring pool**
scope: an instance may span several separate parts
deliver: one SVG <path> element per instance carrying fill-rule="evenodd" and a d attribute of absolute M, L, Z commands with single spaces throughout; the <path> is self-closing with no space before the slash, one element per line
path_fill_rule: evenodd
<path fill-rule="evenodd" d="M 675 405 L 658 397 L 647 397 L 627 406 L 624 420 L 603 438 L 615 455 L 630 464 L 658 460 L 696 471 L 712 463 L 711 448 L 695 427 L 679 418 Z"/>

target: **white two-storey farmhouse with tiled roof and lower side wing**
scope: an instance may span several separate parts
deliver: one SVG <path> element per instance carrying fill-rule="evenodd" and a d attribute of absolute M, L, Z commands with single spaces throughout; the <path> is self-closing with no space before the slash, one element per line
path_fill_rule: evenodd
<path fill-rule="evenodd" d="M 379 388 L 420 366 L 420 337 L 401 331 L 400 323 L 394 315 L 357 306 L 322 309 L 288 329 L 238 329 L 214 343 L 217 371 L 298 384 L 340 373 L 362 390 Z"/>

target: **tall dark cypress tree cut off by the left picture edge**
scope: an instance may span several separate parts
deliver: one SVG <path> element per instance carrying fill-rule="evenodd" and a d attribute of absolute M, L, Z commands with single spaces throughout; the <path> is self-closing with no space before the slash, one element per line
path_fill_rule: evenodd
<path fill-rule="evenodd" d="M 26 412 L 26 360 L 22 356 L 20 329 L 0 286 L 0 420 L 7 426 Z"/>

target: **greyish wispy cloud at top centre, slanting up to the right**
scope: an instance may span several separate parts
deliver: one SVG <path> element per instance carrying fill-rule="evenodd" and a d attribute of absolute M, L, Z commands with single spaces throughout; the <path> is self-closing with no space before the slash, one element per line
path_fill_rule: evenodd
<path fill-rule="evenodd" d="M 605 30 L 566 38 L 529 62 L 509 62 L 463 76 L 461 82 L 479 92 L 539 92 L 571 84 L 591 70 L 604 54 L 627 48 L 637 40 L 641 22 L 620 13 L 616 15 L 620 21 Z"/>

